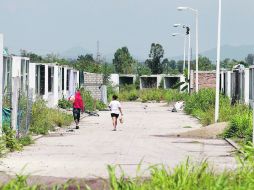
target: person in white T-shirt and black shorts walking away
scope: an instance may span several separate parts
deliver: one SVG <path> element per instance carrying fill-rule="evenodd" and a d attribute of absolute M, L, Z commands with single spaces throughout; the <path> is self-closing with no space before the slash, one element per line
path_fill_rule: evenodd
<path fill-rule="evenodd" d="M 123 112 L 122 112 L 122 106 L 121 106 L 120 102 L 117 100 L 118 97 L 116 95 L 113 95 L 112 99 L 113 100 L 110 102 L 109 108 L 111 110 L 111 118 L 112 118 L 112 122 L 113 122 L 113 131 L 116 131 L 117 119 L 118 119 L 120 114 L 121 114 L 121 116 L 123 116 Z"/>

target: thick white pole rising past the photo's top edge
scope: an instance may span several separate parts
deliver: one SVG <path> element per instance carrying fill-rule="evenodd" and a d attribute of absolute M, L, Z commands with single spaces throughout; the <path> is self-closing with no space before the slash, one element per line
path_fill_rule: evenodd
<path fill-rule="evenodd" d="M 219 0 L 218 13 L 218 41 L 217 41 L 217 67 L 216 67 L 216 100 L 215 100 L 215 122 L 219 120 L 220 104 L 220 45 L 221 45 L 221 0 Z"/>

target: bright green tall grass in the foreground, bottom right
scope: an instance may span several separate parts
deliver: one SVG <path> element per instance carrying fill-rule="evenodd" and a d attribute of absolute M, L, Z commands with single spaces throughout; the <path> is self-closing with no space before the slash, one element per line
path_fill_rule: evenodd
<path fill-rule="evenodd" d="M 120 168 L 120 177 L 116 166 L 108 166 L 110 188 L 112 190 L 225 190 L 254 189 L 254 147 L 245 147 L 244 155 L 239 157 L 236 170 L 215 172 L 207 161 L 192 163 L 189 159 L 175 167 L 163 165 L 150 167 L 150 177 L 128 177 Z"/>

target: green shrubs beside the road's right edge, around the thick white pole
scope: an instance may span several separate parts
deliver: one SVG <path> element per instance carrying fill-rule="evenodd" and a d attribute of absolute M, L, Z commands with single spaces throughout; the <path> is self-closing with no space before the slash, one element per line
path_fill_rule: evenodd
<path fill-rule="evenodd" d="M 214 123 L 215 90 L 203 89 L 185 98 L 185 112 L 197 117 L 202 125 Z M 246 105 L 231 106 L 230 99 L 220 95 L 220 122 L 229 122 L 223 136 L 243 142 L 252 139 L 252 112 Z"/>

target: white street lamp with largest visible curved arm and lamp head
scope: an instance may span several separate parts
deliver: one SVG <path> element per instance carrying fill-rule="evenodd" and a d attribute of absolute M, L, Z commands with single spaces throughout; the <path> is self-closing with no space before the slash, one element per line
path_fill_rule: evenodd
<path fill-rule="evenodd" d="M 199 82 L 198 82 L 198 54 L 199 54 L 199 45 L 198 45 L 198 10 L 190 8 L 190 7 L 178 7 L 179 11 L 190 10 L 195 13 L 196 16 L 196 92 L 199 90 Z"/>

